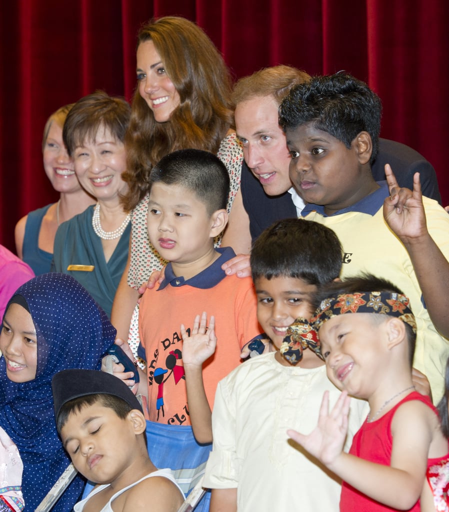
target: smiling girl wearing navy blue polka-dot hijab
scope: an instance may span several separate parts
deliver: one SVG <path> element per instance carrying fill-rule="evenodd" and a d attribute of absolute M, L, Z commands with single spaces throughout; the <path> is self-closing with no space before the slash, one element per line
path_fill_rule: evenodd
<path fill-rule="evenodd" d="M 70 275 L 42 274 L 8 303 L 0 332 L 0 425 L 24 464 L 26 510 L 35 510 L 70 463 L 56 432 L 51 380 L 65 369 L 99 370 L 115 328 Z M 72 510 L 82 492 L 77 476 L 54 507 Z"/>

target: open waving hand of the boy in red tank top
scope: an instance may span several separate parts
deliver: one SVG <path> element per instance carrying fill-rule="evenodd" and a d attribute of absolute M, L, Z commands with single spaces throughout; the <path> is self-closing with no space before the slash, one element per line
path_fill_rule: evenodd
<path fill-rule="evenodd" d="M 326 391 L 319 409 L 318 424 L 308 435 L 288 430 L 287 434 L 311 455 L 330 466 L 343 451 L 348 433 L 350 398 L 343 391 L 329 412 L 329 392 Z"/>

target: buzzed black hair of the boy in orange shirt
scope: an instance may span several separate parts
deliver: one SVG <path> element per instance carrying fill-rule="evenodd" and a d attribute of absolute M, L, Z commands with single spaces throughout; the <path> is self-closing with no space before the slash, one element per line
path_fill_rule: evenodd
<path fill-rule="evenodd" d="M 229 195 L 229 174 L 215 155 L 202 150 L 179 150 L 163 157 L 151 170 L 151 184 L 179 185 L 194 192 L 207 212 L 225 209 Z"/>

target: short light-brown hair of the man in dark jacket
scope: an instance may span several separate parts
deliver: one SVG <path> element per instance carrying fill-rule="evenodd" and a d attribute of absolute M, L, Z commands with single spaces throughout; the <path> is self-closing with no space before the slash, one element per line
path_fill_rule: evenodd
<path fill-rule="evenodd" d="M 235 107 L 253 98 L 273 96 L 279 105 L 292 87 L 307 80 L 310 80 L 310 75 L 291 66 L 263 68 L 236 83 L 232 91 L 232 103 Z"/>

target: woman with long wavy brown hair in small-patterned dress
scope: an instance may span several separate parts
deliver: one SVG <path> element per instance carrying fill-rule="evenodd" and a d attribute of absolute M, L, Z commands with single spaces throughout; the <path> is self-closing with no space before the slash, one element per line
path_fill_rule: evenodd
<path fill-rule="evenodd" d="M 195 23 L 165 16 L 145 24 L 137 41 L 137 87 L 125 138 L 133 210 L 130 254 L 117 290 L 113 324 L 126 339 L 139 287 L 166 263 L 146 233 L 149 172 L 168 153 L 195 148 L 217 154 L 230 177 L 227 210 L 240 187 L 243 153 L 232 131 L 231 79 L 222 55 Z"/>

